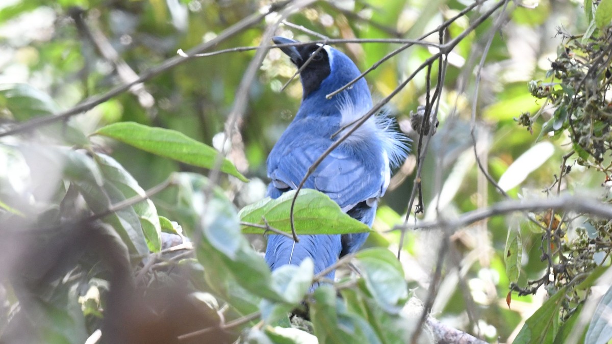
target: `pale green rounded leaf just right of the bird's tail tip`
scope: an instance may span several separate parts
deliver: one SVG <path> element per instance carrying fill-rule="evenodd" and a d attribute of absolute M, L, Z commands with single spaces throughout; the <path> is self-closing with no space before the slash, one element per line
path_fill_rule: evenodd
<path fill-rule="evenodd" d="M 400 261 L 388 249 L 376 247 L 357 252 L 357 266 L 365 285 L 384 310 L 398 313 L 408 300 L 408 285 Z"/>

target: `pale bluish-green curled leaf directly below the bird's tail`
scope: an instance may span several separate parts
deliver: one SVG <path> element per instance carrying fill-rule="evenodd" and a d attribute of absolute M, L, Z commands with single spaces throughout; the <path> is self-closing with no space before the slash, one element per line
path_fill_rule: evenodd
<path fill-rule="evenodd" d="M 269 300 L 261 301 L 261 318 L 267 323 L 272 323 L 277 319 L 286 316 L 295 308 L 312 284 L 314 277 L 314 264 L 312 260 L 302 261 L 300 266 L 285 265 L 278 267 L 272 272 L 272 287 L 285 302 L 272 302 Z"/>

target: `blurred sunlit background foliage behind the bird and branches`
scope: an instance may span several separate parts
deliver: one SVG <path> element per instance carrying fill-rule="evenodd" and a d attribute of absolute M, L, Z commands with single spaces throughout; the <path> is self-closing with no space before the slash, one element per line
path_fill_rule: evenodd
<path fill-rule="evenodd" d="M 461 34 L 492 2 L 485 2 L 454 21 L 445 33 L 445 40 Z M 414 39 L 469 4 L 455 0 L 317 1 L 291 15 L 288 21 L 334 39 Z M 24 122 L 70 109 L 173 58 L 179 49 L 188 50 L 214 39 L 224 29 L 267 5 L 269 2 L 263 0 L 3 1 L 0 5 L 0 119 L 5 124 Z M 476 164 L 471 130 L 476 133 L 476 148 L 483 165 L 511 198 L 546 198 L 544 191 L 559 176 L 563 155 L 572 149 L 567 130 L 555 132 L 548 127 L 543 130 L 543 125 L 553 118 L 555 108 L 542 108 L 543 100 L 533 97 L 528 84 L 531 80 L 547 78 L 551 61 L 557 58 L 562 44 L 559 32 L 572 35 L 587 30 L 589 18 L 584 15 L 583 4 L 572 0 L 523 2 L 519 7 L 509 4 L 501 17 L 504 24 L 494 32 L 476 83 L 482 51 L 498 13 L 465 37 L 448 57 L 438 113 L 440 125 L 431 141 L 422 174 L 425 213 L 417 215 L 419 219 L 453 217 L 504 200 L 505 196 L 487 182 Z M 214 50 L 259 45 L 266 25 L 273 19 L 267 17 L 253 28 L 223 41 Z M 277 35 L 302 41 L 318 39 L 283 25 Z M 427 40 L 437 42 L 436 36 Z M 391 43 L 337 46 L 361 70 L 397 47 Z M 381 98 L 393 91 L 432 53 L 434 48 L 411 47 L 368 73 L 366 79 L 375 97 Z M 72 129 L 61 125 L 52 125 L 42 133 L 47 135 L 44 140 L 36 135 L 9 136 L 2 138 L 2 143 L 30 140 L 69 147 L 88 146 L 113 157 L 145 190 L 176 171 L 206 175 L 207 170 L 202 168 L 83 134 L 90 135 L 104 125 L 134 121 L 177 130 L 222 149 L 223 131 L 236 100 L 236 90 L 254 55 L 254 51 L 244 51 L 192 59 L 147 80 L 140 88 L 73 116 L 67 122 L 75 133 L 71 134 Z M 248 106 L 238 123 L 242 140 L 230 143 L 228 159 L 250 182 L 227 176 L 219 181 L 223 193 L 237 208 L 264 196 L 267 154 L 299 107 L 299 82 L 294 80 L 282 90 L 293 73 L 294 67 L 285 56 L 279 50 L 270 50 L 248 88 Z M 432 73 L 438 73 L 437 66 Z M 400 129 L 415 142 L 418 135 L 411 128 L 409 114 L 424 105 L 425 89 L 425 73 L 421 72 L 389 106 Z M 537 111 L 540 115 L 533 118 L 528 129 L 517 124 L 521 114 Z M 472 114 L 476 116 L 473 125 Z M 17 173 L 13 160 L 18 158 L 7 151 L 0 157 L 3 165 L 12 166 L 0 168 L 3 185 L 13 183 L 14 186 L 15 179 L 27 179 L 23 176 L 25 172 Z M 606 173 L 574 165 L 574 160 L 575 157 L 570 157 L 566 162 L 572 171 L 563 177 L 561 190 L 603 196 L 606 190 L 601 185 Z M 610 157 L 605 156 L 603 160 L 609 162 Z M 405 218 L 415 165 L 412 155 L 397 171 L 377 215 L 375 230 L 379 233 L 370 236 L 366 247 L 389 247 L 397 252 L 400 231 L 389 230 Z M 3 187 L 0 195 L 3 208 L 23 211 L 22 207 L 28 204 L 19 204 L 9 189 Z M 174 192 L 155 196 L 157 211 L 178 222 L 187 233 L 193 233 L 196 220 L 193 214 L 185 214 L 176 205 L 176 197 Z M 547 223 L 542 220 L 545 214 L 535 215 Z M 584 221 L 575 222 L 580 220 Z M 526 286 L 528 280 L 540 279 L 547 266 L 540 260 L 542 231 L 536 227 L 525 217 L 494 217 L 453 233 L 432 315 L 488 341 L 498 342 L 499 338 L 499 342 L 512 342 L 524 321 L 542 305 L 547 295 L 543 290 L 521 297 L 513 294 L 510 305 L 507 304 L 510 282 Z M 507 275 L 506 266 L 509 231 L 518 231 L 521 241 L 519 273 L 514 277 Z M 408 231 L 401 247 L 401 263 L 408 285 L 424 299 L 442 236 L 441 231 Z M 263 250 L 263 237 L 250 235 L 248 238 L 256 249 Z M 599 264 L 606 266 L 609 260 L 605 255 Z M 15 301 L 12 297 L 6 300 L 9 308 Z M 95 313 L 96 308 L 86 309 Z"/>

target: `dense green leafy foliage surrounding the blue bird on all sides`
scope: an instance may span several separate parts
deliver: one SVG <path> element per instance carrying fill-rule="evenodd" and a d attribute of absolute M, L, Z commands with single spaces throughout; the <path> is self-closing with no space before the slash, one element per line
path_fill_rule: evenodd
<path fill-rule="evenodd" d="M 321 193 L 297 197 L 297 233 L 371 231 L 364 250 L 338 262 L 334 282 L 314 275 L 310 261 L 271 272 L 260 253 L 266 226 L 291 232 L 294 193 L 263 196 L 267 152 L 301 96 L 297 82 L 283 89 L 295 70 L 270 50 L 247 83 L 253 51 L 176 56 L 202 42 L 214 50 L 266 44 L 277 19 L 257 16 L 269 4 L 0 4 L 0 340 L 83 343 L 102 329 L 107 342 L 406 343 L 419 326 L 417 299 L 485 340 L 580 340 L 577 319 L 610 266 L 610 219 L 526 212 L 460 228 L 453 219 L 541 190 L 588 190 L 607 202 L 608 190 L 598 188 L 612 174 L 610 1 L 586 0 L 583 12 L 573 2 L 527 9 L 489 0 L 461 15 L 458 1 L 314 2 L 289 13 L 294 25 L 276 34 L 319 39 L 304 26 L 332 39 L 395 39 L 336 45 L 360 69 L 376 67 L 366 78 L 383 96 L 440 51 L 397 39 L 444 21 L 445 42 L 461 39 L 444 68 L 424 67 L 391 100 L 425 159 L 415 168 L 411 157 L 397 171 L 373 230 Z M 558 26 L 559 14 L 577 33 L 550 40 L 554 33 L 541 28 Z M 431 32 L 427 41 L 437 42 Z M 532 38 L 537 50 L 524 44 Z M 550 70 L 540 63 L 549 58 Z M 144 83 L 116 91 L 134 75 Z M 419 142 L 407 114 L 428 102 L 440 126 Z M 78 104 L 91 107 L 54 117 Z M 19 131 L 6 135 L 11 129 Z M 425 214 L 406 211 L 415 187 Z M 422 215 L 442 229 L 398 230 L 418 227 Z M 589 340 L 609 337 L 602 320 L 592 317 Z M 420 337 L 431 340 L 427 330 Z"/>

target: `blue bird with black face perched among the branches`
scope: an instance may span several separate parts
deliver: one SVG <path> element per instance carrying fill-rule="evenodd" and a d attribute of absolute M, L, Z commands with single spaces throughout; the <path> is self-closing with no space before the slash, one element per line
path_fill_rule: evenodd
<path fill-rule="evenodd" d="M 274 37 L 274 43 L 296 43 Z M 338 140 L 334 133 L 351 125 L 372 108 L 370 89 L 362 78 L 331 99 L 330 92 L 360 75 L 359 69 L 341 51 L 321 44 L 280 48 L 291 62 L 302 67 L 302 104 L 267 159 L 268 177 L 272 179 L 267 196 L 277 198 L 297 189 L 308 168 Z M 385 114 L 371 117 L 323 160 L 307 179 L 304 188 L 326 193 L 340 208 L 368 226 L 376 215 L 378 200 L 389 186 L 390 171 L 408 154 L 408 138 L 393 130 Z M 350 127 L 349 127 L 350 129 Z M 315 274 L 334 264 L 338 258 L 364 244 L 368 233 L 343 235 L 300 235 L 299 242 L 286 236 L 268 236 L 266 262 L 272 270 L 285 264 L 299 265 L 310 257 Z M 334 271 L 326 275 L 334 279 Z"/>

